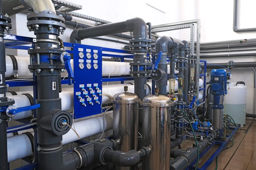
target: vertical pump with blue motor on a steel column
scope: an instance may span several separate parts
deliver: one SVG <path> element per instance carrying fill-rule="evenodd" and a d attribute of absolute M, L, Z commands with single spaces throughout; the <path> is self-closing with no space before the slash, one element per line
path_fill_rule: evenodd
<path fill-rule="evenodd" d="M 227 94 L 227 80 L 231 74 L 224 69 L 214 69 L 211 71 L 210 93 L 213 95 L 213 118 L 212 125 L 217 131 L 217 137 L 223 137 L 223 101 Z"/>

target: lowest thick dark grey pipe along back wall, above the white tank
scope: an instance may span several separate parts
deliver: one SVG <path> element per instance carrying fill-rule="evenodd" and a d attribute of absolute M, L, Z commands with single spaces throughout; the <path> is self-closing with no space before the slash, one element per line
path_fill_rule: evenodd
<path fill-rule="evenodd" d="M 222 66 L 222 67 L 220 67 Z M 204 65 L 200 65 L 201 68 L 204 68 Z M 211 63 L 206 64 L 207 69 L 215 69 L 215 68 L 228 68 L 227 63 Z M 256 62 L 235 62 L 234 68 L 248 68 L 248 67 L 256 67 Z"/>

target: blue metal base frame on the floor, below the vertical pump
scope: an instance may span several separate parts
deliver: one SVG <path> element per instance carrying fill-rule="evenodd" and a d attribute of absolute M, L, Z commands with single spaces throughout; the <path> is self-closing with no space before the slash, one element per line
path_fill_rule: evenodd
<path fill-rule="evenodd" d="M 234 136 L 234 134 L 236 133 L 236 131 L 238 130 L 238 128 L 240 127 L 240 125 L 237 125 L 236 127 L 230 127 L 230 130 L 233 130 L 231 132 L 231 135 Z M 219 148 L 212 154 L 212 156 L 204 163 L 204 165 L 201 168 L 197 168 L 197 170 L 206 170 L 209 165 L 211 165 L 211 163 L 216 159 L 216 157 L 220 154 L 220 152 L 222 151 L 222 149 L 228 144 L 228 142 L 230 142 L 231 140 L 231 135 L 227 135 L 226 136 L 226 140 L 224 142 L 222 141 L 214 141 L 214 143 L 207 147 L 200 155 L 199 155 L 199 159 L 209 150 L 211 149 L 215 144 L 220 145 Z M 197 161 L 197 160 L 196 160 Z M 190 164 L 190 166 L 187 168 L 187 170 L 195 170 L 195 167 L 193 167 L 194 164 L 196 164 L 196 161 L 194 161 L 192 164 Z"/>

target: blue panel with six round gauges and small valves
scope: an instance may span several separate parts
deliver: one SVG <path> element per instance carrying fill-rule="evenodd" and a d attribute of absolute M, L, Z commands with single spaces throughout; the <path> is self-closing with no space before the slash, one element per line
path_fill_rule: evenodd
<path fill-rule="evenodd" d="M 74 119 L 102 111 L 102 48 L 74 44 Z"/>

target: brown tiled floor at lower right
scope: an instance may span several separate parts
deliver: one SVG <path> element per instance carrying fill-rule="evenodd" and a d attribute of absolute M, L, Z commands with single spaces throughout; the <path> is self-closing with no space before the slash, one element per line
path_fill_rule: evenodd
<path fill-rule="evenodd" d="M 247 133 L 245 129 L 254 121 Z M 246 120 L 246 126 L 237 130 L 234 135 L 234 145 L 222 151 L 218 157 L 218 170 L 256 170 L 256 120 Z M 182 149 L 191 147 L 193 140 L 186 139 L 182 142 Z M 230 145 L 228 143 L 228 145 Z M 199 160 L 201 167 L 216 151 L 218 146 L 214 146 Z M 214 161 L 208 170 L 215 170 L 216 161 Z"/>

